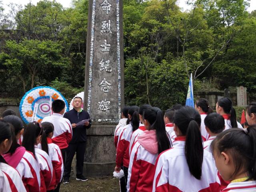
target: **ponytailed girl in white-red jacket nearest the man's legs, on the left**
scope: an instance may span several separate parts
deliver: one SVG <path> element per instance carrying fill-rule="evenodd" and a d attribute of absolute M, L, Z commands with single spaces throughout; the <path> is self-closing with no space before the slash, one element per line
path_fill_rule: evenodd
<path fill-rule="evenodd" d="M 54 189 L 54 192 L 58 192 L 60 190 L 60 184 L 64 172 L 63 159 L 59 146 L 52 142 L 52 136 L 54 133 L 53 124 L 50 122 L 43 122 L 42 128 L 45 134 L 42 135 L 41 144 L 38 144 L 38 147 L 44 150 L 52 161 L 55 180 L 52 179 L 51 186 Z"/>

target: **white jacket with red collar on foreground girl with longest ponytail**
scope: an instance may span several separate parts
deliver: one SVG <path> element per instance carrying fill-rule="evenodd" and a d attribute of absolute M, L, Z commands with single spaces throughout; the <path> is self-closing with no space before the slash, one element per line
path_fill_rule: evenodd
<path fill-rule="evenodd" d="M 152 191 L 219 192 L 220 180 L 209 152 L 204 151 L 201 180 L 190 174 L 184 150 L 185 140 L 185 136 L 177 137 L 173 147 L 158 156 Z"/>

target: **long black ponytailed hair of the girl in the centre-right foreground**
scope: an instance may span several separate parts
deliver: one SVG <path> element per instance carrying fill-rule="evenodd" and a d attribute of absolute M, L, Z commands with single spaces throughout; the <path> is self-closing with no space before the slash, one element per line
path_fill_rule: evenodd
<path fill-rule="evenodd" d="M 194 108 L 185 106 L 175 112 L 174 123 L 182 135 L 186 136 L 185 156 L 189 171 L 196 179 L 200 180 L 204 156 L 200 132 L 201 116 Z"/>

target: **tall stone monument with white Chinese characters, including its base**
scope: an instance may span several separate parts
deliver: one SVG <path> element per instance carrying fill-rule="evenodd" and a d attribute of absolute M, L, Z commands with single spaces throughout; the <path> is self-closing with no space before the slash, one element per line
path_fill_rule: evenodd
<path fill-rule="evenodd" d="M 86 47 L 84 109 L 87 130 L 84 173 L 111 174 L 115 166 L 114 130 L 124 105 L 122 0 L 90 0 Z"/>

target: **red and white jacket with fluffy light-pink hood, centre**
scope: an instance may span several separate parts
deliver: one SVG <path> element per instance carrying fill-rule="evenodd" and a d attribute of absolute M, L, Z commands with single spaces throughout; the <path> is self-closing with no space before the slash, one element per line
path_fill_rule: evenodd
<path fill-rule="evenodd" d="M 128 192 L 152 191 L 155 162 L 158 156 L 156 130 L 145 130 L 135 142 L 128 169 Z"/>

